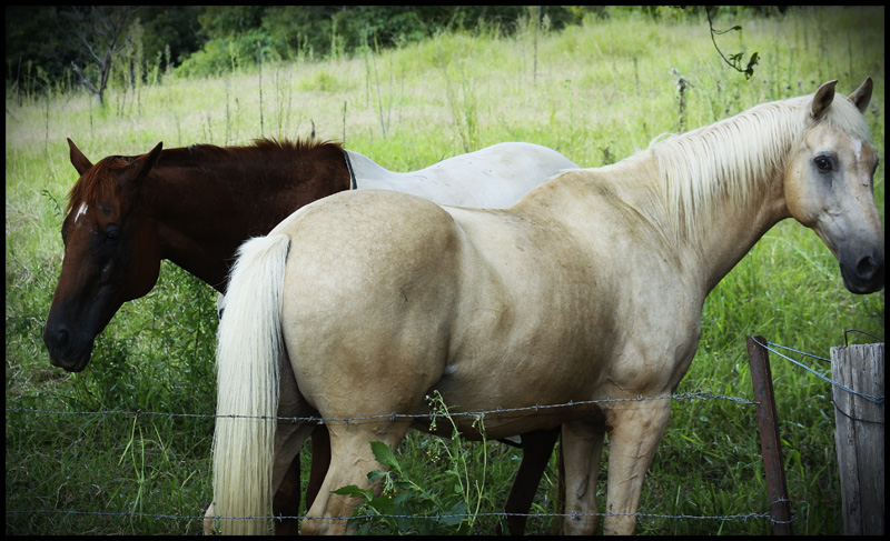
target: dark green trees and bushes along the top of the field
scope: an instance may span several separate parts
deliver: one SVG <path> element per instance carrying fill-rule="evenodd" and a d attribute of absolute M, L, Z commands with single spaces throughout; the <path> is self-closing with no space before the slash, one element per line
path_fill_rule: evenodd
<path fill-rule="evenodd" d="M 7 7 L 7 87 L 34 90 L 22 70 L 39 67 L 53 83 L 70 77 L 72 60 L 85 63 L 80 40 L 65 39 L 78 24 L 77 7 Z M 92 8 L 97 9 L 97 8 Z M 106 10 L 106 8 L 98 8 Z M 451 29 L 513 24 L 524 8 L 508 6 L 144 6 L 139 21 L 145 56 L 158 72 L 174 67 L 186 77 L 207 77 L 259 59 L 328 58 L 379 46 L 416 43 Z M 578 10 L 545 7 L 551 23 L 577 22 Z M 107 18 L 107 16 L 102 16 Z M 100 18 L 101 19 L 101 18 Z M 261 52 L 257 43 L 260 43 Z M 175 66 L 174 66 L 175 64 Z M 147 76 L 152 70 L 148 70 Z"/>

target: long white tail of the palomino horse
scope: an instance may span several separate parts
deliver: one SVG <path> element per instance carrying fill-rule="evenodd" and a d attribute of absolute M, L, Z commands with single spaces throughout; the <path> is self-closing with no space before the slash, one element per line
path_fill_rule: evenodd
<path fill-rule="evenodd" d="M 281 298 L 290 239 L 245 242 L 231 272 L 217 339 L 214 501 L 218 517 L 269 517 Z M 220 520 L 224 533 L 266 533 L 268 521 Z"/>

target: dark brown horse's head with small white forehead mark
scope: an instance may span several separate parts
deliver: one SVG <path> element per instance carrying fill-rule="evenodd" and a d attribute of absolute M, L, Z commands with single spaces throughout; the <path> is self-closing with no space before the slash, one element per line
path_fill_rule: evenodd
<path fill-rule="evenodd" d="M 80 179 L 69 193 L 62 223 L 65 260 L 43 342 L 52 364 L 79 372 L 115 312 L 148 293 L 158 280 L 157 233 L 138 196 L 162 143 L 146 154 L 112 156 L 96 166 L 70 139 L 68 146 Z"/>

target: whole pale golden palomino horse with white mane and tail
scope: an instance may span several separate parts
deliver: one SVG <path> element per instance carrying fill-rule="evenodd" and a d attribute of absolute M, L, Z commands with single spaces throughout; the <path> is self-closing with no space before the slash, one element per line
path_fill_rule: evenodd
<path fill-rule="evenodd" d="M 872 82 L 849 99 L 835 82 L 565 172 L 505 210 L 357 191 L 245 243 L 219 325 L 218 517 L 268 514 L 307 431 L 269 418 L 318 414 L 333 459 L 303 530 L 344 532 L 358 500 L 332 491 L 379 489 L 368 441 L 428 429 L 424 397 L 438 391 L 454 412 L 486 412 L 491 438 L 562 425 L 567 533 L 596 527 L 609 432 L 604 531 L 632 533 L 704 299 L 765 231 L 794 218 L 847 289 L 883 288 Z M 471 438 L 474 420 L 455 417 Z"/>

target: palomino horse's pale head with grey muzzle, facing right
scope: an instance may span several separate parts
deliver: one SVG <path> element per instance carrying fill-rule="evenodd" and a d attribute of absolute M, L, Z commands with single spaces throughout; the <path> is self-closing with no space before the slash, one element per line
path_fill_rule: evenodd
<path fill-rule="evenodd" d="M 872 82 L 848 99 L 835 97 L 837 82 L 819 87 L 808 106 L 812 126 L 785 167 L 785 203 L 838 259 L 847 289 L 871 293 L 883 288 L 883 227 L 872 192 L 878 154 L 862 117 Z"/>

